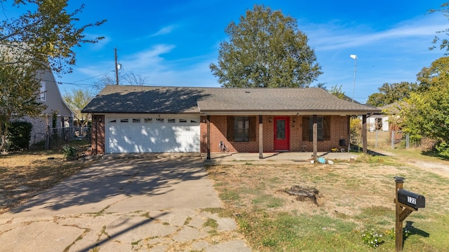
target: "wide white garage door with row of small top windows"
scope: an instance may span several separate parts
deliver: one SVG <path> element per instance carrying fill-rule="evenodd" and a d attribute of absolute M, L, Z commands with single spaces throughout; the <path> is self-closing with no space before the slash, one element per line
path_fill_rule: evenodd
<path fill-rule="evenodd" d="M 199 152 L 199 117 L 107 117 L 106 153 Z"/>

